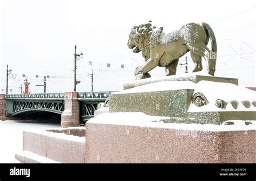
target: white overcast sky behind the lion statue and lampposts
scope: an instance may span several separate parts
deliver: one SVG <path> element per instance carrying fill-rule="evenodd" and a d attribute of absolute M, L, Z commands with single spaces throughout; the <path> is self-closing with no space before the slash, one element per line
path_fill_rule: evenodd
<path fill-rule="evenodd" d="M 91 69 L 95 91 L 120 90 L 124 82 L 133 81 L 134 69 L 144 63 L 141 53 L 127 47 L 130 29 L 148 20 L 164 26 L 166 32 L 190 22 L 210 24 L 218 44 L 215 76 L 238 78 L 241 86 L 255 86 L 254 0 L 1 1 L 0 11 L 1 92 L 5 92 L 7 64 L 17 75 L 9 79 L 12 93 L 21 92 L 22 74 L 31 83 L 31 93 L 43 92 L 36 85 L 43 83 L 44 75 L 50 75 L 47 92 L 73 91 L 75 45 L 84 54 L 77 60 L 81 81 L 77 91 L 91 91 Z M 187 56 L 191 72 L 193 64 Z M 184 57 L 180 62 L 184 63 Z M 203 66 L 205 70 L 204 60 Z M 184 71 L 178 67 L 177 74 Z M 158 67 L 151 75 L 165 76 L 165 69 Z"/>

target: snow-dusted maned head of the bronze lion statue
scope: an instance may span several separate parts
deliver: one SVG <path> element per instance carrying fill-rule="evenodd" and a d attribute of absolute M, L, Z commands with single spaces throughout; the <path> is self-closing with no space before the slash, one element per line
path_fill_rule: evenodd
<path fill-rule="evenodd" d="M 133 26 L 129 34 L 128 47 L 132 49 L 134 53 L 139 53 L 142 51 L 142 55 L 145 60 L 150 58 L 150 47 L 152 47 L 152 42 L 156 43 L 154 39 L 158 39 L 163 28 L 154 31 L 155 26 L 151 23 L 146 23 L 138 26 Z"/>

